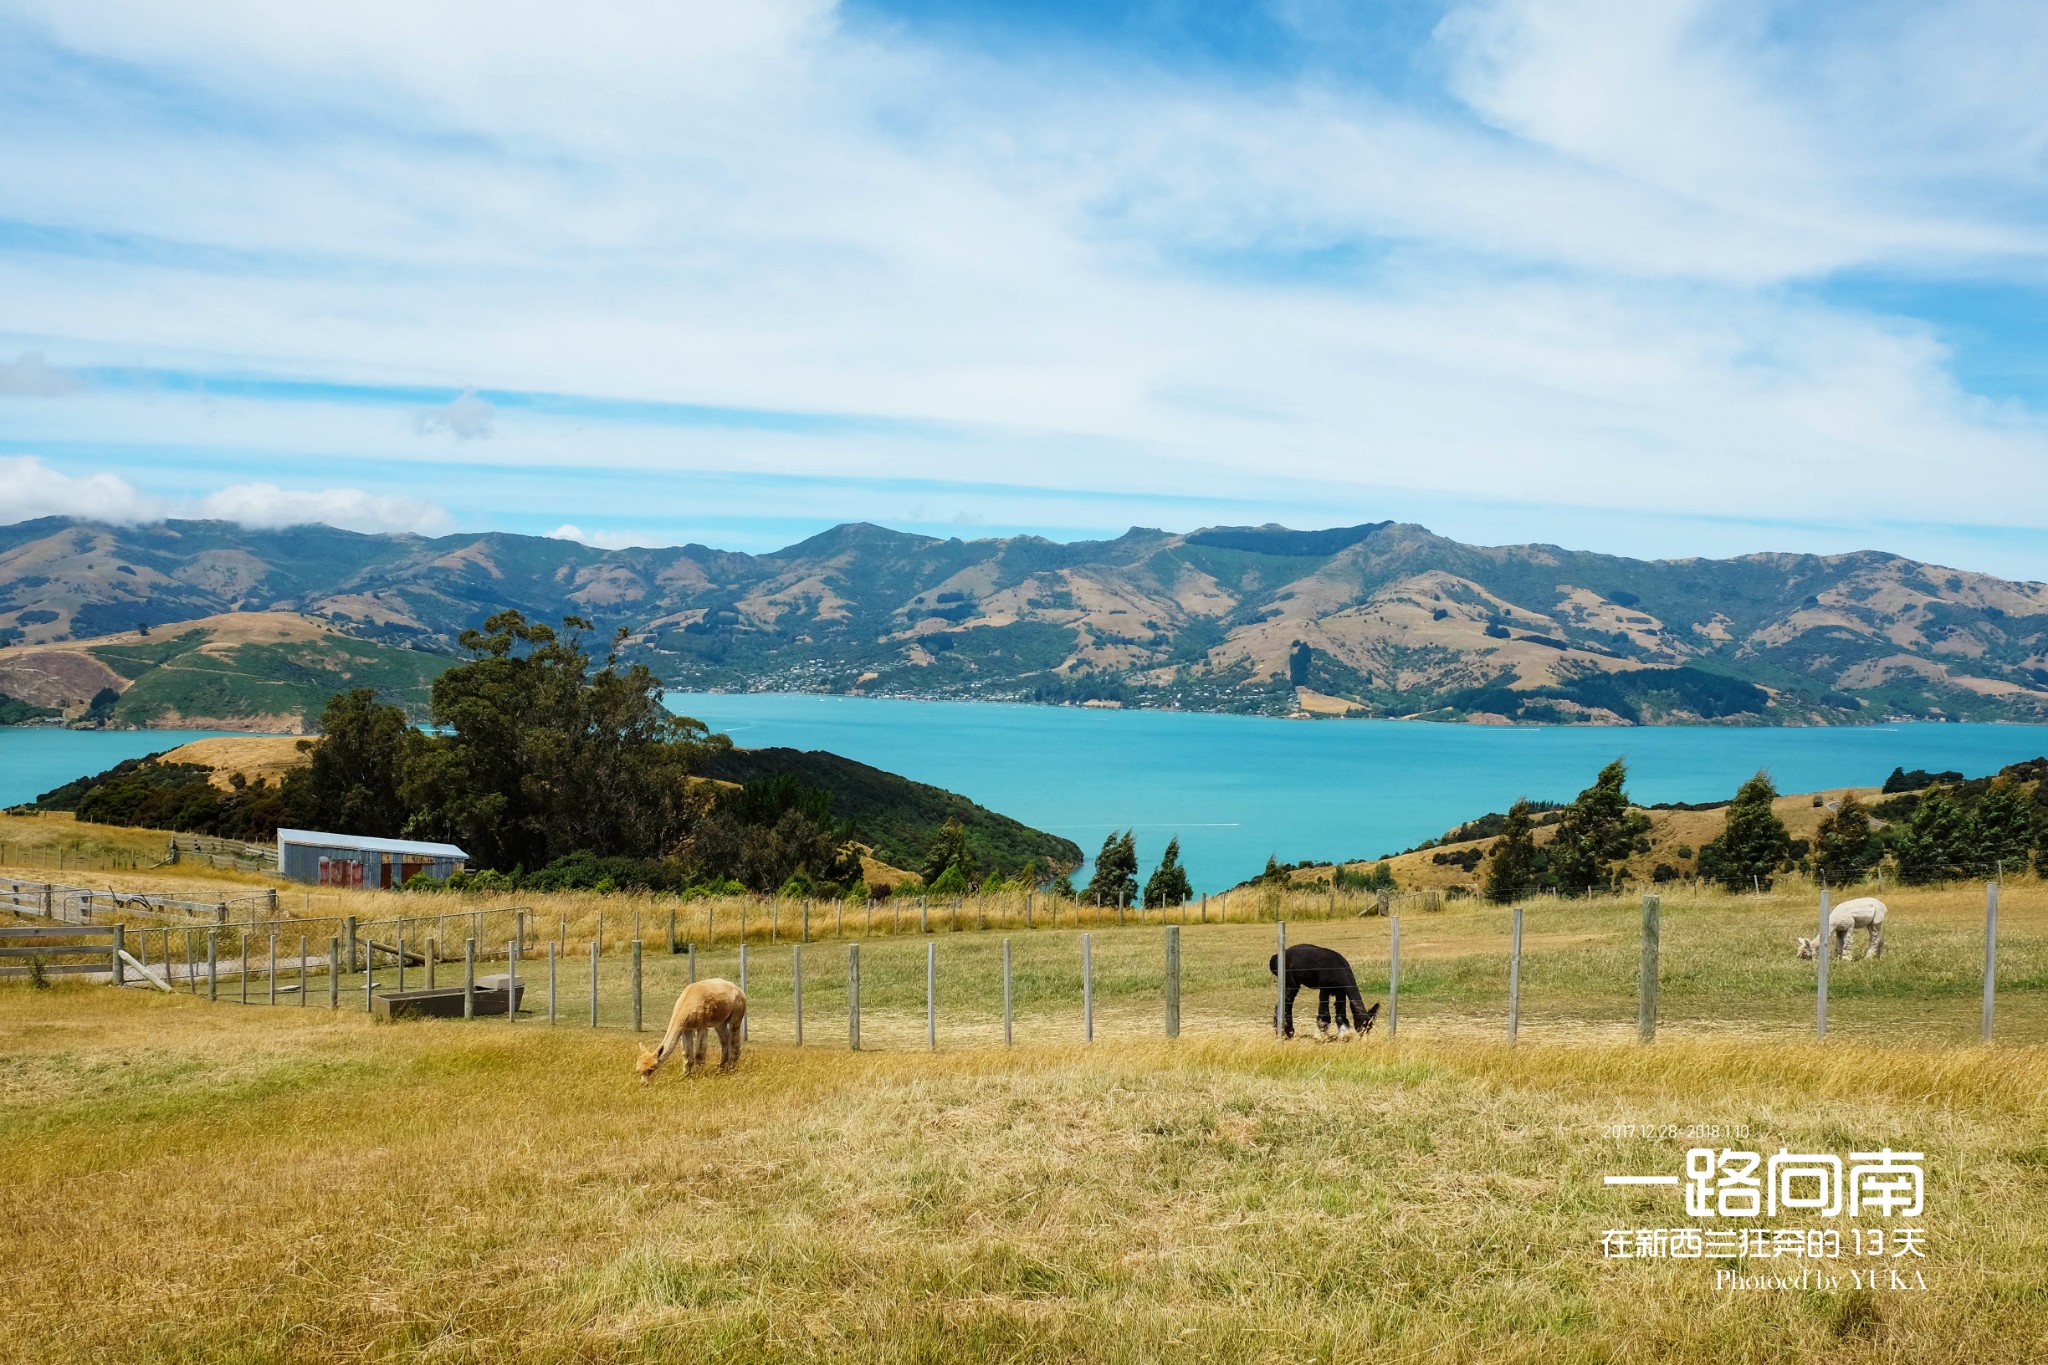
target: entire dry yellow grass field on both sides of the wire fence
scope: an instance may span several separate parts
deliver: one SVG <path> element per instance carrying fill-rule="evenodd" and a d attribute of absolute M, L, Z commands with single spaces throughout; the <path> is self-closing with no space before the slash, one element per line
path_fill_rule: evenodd
<path fill-rule="evenodd" d="M 1894 896 L 1886 958 L 1835 966 L 1825 1044 L 1812 964 L 1790 952 L 1810 900 L 1786 888 L 1665 900 L 1653 1046 L 1632 1040 L 1630 900 L 1528 907 L 1513 1048 L 1507 911 L 1470 902 L 1403 915 L 1399 1038 L 1348 1046 L 1270 1038 L 1270 923 L 1182 929 L 1176 1042 L 1163 931 L 1092 929 L 1092 1046 L 1079 931 L 963 923 L 930 935 L 936 1054 L 913 925 L 848 933 L 866 939 L 858 1054 L 846 948 L 803 950 L 799 1048 L 795 945 L 756 921 L 737 1074 L 670 1068 L 651 1087 L 631 1076 L 651 1033 L 627 1031 L 623 927 L 639 911 L 666 937 L 668 902 L 553 900 L 530 931 L 559 915 L 571 948 L 555 1025 L 535 960 L 512 1023 L 375 1025 L 360 974 L 334 1013 L 317 976 L 311 1007 L 274 1009 L 236 1003 L 240 978 L 219 1003 L 0 986 L 0 1357 L 2034 1361 L 2048 1342 L 2034 882 L 2001 905 L 1993 1048 L 1974 1042 L 1980 888 Z M 1317 921 L 1327 902 L 1300 896 L 1266 909 L 1292 941 L 1343 948 L 1384 999 L 1386 921 Z M 737 907 L 719 917 L 698 970 L 731 976 Z M 649 945 L 649 1029 L 684 962 Z M 1804 1289 L 1716 1287 L 1733 1263 L 1602 1259 L 1610 1228 L 1692 1222 L 1677 1191 L 1602 1177 L 1681 1171 L 1692 1140 L 1640 1130 L 1696 1124 L 1747 1126 L 1737 1146 L 1767 1152 L 1925 1150 L 1911 1265 L 1927 1289 L 1860 1289 L 1853 1257 L 1815 1263 L 1839 1285 Z"/>

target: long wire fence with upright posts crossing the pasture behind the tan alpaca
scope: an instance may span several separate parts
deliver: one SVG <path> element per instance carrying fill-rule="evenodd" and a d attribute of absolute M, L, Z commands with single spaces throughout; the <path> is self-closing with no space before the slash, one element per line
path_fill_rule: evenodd
<path fill-rule="evenodd" d="M 1987 886 L 1985 898 L 1980 933 L 1950 917 L 1939 931 L 1923 927 L 1915 937 L 1927 980 L 1954 1005 L 1944 1036 L 1989 1042 L 2003 990 L 2021 1013 L 1999 1036 L 2034 1040 L 2048 1029 L 2048 941 L 2009 931 L 2005 952 L 2017 958 L 2007 960 L 2001 980 L 1999 886 Z M 1331 909 L 1327 898 L 1319 905 Z M 1835 966 L 1831 976 L 1831 954 L 1800 962 L 1790 952 L 1788 927 L 1827 937 L 1827 898 L 1741 921 L 1665 907 L 1657 894 L 1636 905 L 1479 907 L 1475 917 L 1450 919 L 1411 913 L 1407 939 L 1399 913 L 1317 919 L 1305 915 L 1317 909 L 1313 898 L 1284 905 L 1290 917 L 1278 921 L 1251 919 L 1251 905 L 1235 907 L 1241 919 L 1223 919 L 1221 905 L 1202 919 L 1196 905 L 1188 923 L 1161 923 L 1161 915 L 1139 921 L 1126 909 L 1122 929 L 1114 907 L 1102 907 L 1108 919 L 1096 921 L 1098 907 L 1059 902 L 1057 913 L 1040 913 L 1034 905 L 1030 927 L 1001 925 L 993 907 L 981 907 L 987 933 L 967 931 L 967 905 L 942 907 L 958 911 L 956 937 L 932 905 L 915 923 L 920 907 L 909 902 L 901 925 L 883 919 L 870 937 L 846 925 L 844 941 L 819 937 L 815 907 L 809 927 L 801 905 L 786 907 L 793 919 L 770 913 L 760 921 L 752 911 L 768 907 L 748 907 L 745 919 L 739 905 L 672 909 L 674 921 L 666 913 L 655 923 L 645 911 L 616 915 L 580 937 L 569 935 L 567 915 L 530 905 L 129 929 L 127 950 L 139 968 L 129 984 L 383 1017 L 659 1031 L 688 982 L 725 976 L 748 990 L 752 1038 L 856 1050 L 1092 1042 L 1098 1025 L 1167 1038 L 1184 1029 L 1284 1029 L 1284 1003 L 1307 1033 L 1311 1013 L 1329 1019 L 1335 999 L 1323 995 L 1323 982 L 1288 982 L 1268 966 L 1268 958 L 1286 962 L 1284 948 L 1305 937 L 1350 958 L 1358 988 L 1382 1007 L 1382 1033 L 1413 1027 L 1421 1007 L 1423 1027 L 1509 1044 L 1532 1029 L 1651 1042 L 1659 1023 L 1673 1019 L 1688 1029 L 1825 1038 L 1831 1019 L 1876 1031 L 1880 1017 L 1890 1017 L 1886 1001 L 1896 999 L 1890 984 L 1862 978 L 1858 968 Z M 1731 921 L 1743 927 L 1731 929 Z M 901 933 L 885 931 L 897 927 Z M 96 952 L 104 960 L 106 948 Z M 1925 1005 L 1917 1009 L 1925 1013 Z"/>

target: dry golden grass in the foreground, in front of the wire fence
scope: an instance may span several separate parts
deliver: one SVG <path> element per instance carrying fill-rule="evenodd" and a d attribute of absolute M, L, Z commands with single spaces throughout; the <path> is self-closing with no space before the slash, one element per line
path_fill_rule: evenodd
<path fill-rule="evenodd" d="M 2048 1336 L 2036 1048 L 756 1044 L 647 1089 L 631 1052 L 0 990 L 0 1355 L 2025 1361 Z M 1686 1146 L 1614 1121 L 1929 1150 L 1929 1289 L 1604 1263 L 1604 1228 L 1683 1222 L 1602 1187 Z"/>

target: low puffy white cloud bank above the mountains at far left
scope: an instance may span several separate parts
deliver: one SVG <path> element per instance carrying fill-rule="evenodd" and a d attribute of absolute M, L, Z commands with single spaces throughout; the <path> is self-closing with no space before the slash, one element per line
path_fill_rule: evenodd
<path fill-rule="evenodd" d="M 0 456 L 0 522 L 29 522 L 41 516 L 117 524 L 207 518 L 264 528 L 322 522 L 346 530 L 420 534 L 440 534 L 455 524 L 430 501 L 362 489 L 238 483 L 205 497 L 184 499 L 145 493 L 121 475 L 66 475 L 33 454 Z"/>

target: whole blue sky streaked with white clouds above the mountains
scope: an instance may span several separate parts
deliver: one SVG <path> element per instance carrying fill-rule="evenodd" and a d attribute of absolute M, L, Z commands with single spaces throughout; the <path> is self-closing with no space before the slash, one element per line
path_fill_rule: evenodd
<path fill-rule="evenodd" d="M 2048 579 L 2048 6 L 0 0 L 0 520 Z"/>

